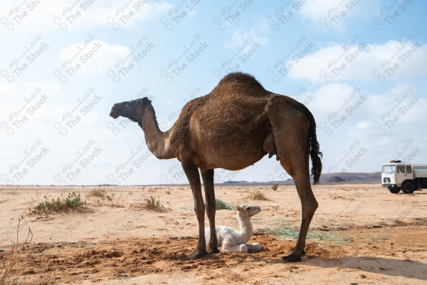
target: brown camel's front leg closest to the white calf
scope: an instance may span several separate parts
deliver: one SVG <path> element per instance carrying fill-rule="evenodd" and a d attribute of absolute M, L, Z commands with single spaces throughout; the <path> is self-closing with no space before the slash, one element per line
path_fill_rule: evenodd
<path fill-rule="evenodd" d="M 216 212 L 216 201 L 214 191 L 214 170 L 200 170 L 201 178 L 203 180 L 205 199 L 206 199 L 206 214 L 209 219 L 209 249 L 210 254 L 217 254 L 218 250 L 218 239 L 216 237 L 215 229 L 215 212 Z"/>

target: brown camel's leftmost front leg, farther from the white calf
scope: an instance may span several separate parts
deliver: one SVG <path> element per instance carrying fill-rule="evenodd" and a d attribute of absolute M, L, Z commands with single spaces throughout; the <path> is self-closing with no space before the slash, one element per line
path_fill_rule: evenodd
<path fill-rule="evenodd" d="M 194 198 L 194 212 L 196 212 L 197 221 L 199 222 L 199 242 L 197 243 L 196 250 L 191 253 L 191 259 L 199 259 L 206 254 L 206 240 L 204 233 L 204 202 L 201 195 L 201 183 L 199 176 L 199 168 L 192 163 L 182 163 L 185 175 L 189 180 L 191 191 Z"/>

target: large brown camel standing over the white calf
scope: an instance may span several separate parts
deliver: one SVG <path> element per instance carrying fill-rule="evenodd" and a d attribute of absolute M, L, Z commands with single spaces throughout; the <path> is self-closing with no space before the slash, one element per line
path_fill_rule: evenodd
<path fill-rule="evenodd" d="M 317 201 L 310 186 L 322 172 L 322 152 L 316 138 L 316 124 L 305 105 L 285 95 L 271 93 L 245 73 L 225 76 L 211 93 L 195 98 L 182 108 L 174 126 L 159 130 L 148 98 L 117 103 L 110 116 L 130 118 L 142 128 L 148 149 L 159 159 L 176 157 L 189 180 L 194 211 L 199 221 L 199 242 L 191 258 L 218 252 L 215 232 L 214 169 L 241 170 L 264 155 L 276 155 L 295 182 L 302 204 L 300 235 L 292 253 L 283 260 L 300 261 L 305 237 Z M 204 232 L 204 184 L 210 237 L 208 252 Z"/>

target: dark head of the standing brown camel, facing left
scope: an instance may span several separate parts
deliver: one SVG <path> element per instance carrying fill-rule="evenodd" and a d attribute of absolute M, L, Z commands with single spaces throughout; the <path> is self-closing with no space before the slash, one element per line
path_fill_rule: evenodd
<path fill-rule="evenodd" d="M 125 118 L 129 118 L 134 122 L 138 122 L 139 118 L 142 118 L 144 110 L 149 104 L 151 104 L 151 100 L 149 100 L 147 97 L 132 101 L 125 101 L 122 103 L 116 103 L 111 108 L 110 116 L 113 119 L 122 116 Z"/>

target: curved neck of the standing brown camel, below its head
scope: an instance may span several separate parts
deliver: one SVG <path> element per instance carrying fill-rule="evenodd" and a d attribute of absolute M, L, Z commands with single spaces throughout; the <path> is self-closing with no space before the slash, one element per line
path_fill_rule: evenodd
<path fill-rule="evenodd" d="M 169 130 L 167 132 L 162 132 L 159 129 L 152 105 L 147 106 L 142 118 L 138 121 L 138 125 L 144 132 L 145 142 L 147 142 L 149 151 L 152 152 L 155 157 L 161 160 L 175 157 L 169 145 Z"/>

